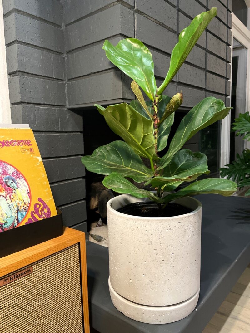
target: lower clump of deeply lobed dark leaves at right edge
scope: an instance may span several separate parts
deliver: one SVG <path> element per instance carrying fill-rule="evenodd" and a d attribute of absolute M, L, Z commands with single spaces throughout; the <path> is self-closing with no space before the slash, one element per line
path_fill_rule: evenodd
<path fill-rule="evenodd" d="M 236 160 L 220 168 L 220 171 L 222 177 L 232 179 L 239 185 L 242 180 L 246 180 L 250 176 L 250 150 L 246 149 L 241 155 L 237 154 Z"/>

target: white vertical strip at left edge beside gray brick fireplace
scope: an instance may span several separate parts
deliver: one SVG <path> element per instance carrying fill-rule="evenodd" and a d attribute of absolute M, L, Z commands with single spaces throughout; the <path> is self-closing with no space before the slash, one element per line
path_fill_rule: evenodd
<path fill-rule="evenodd" d="M 11 123 L 2 0 L 0 0 L 0 123 Z"/>

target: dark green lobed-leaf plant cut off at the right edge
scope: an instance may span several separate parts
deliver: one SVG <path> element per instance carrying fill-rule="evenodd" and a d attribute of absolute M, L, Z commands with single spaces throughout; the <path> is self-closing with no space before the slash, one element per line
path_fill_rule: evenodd
<path fill-rule="evenodd" d="M 239 118 L 235 119 L 232 131 L 236 132 L 236 136 L 243 136 L 243 140 L 250 141 L 250 115 L 248 112 L 239 114 Z M 220 169 L 221 176 L 236 181 L 238 187 L 250 186 L 250 150 L 245 149 L 241 155 L 237 154 L 235 161 L 227 164 Z M 250 189 L 245 196 L 250 195 Z"/>

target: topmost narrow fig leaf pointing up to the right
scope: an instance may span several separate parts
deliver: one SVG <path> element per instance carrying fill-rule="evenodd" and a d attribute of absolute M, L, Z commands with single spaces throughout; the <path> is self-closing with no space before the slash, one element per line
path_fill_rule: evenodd
<path fill-rule="evenodd" d="M 158 95 L 162 94 L 166 89 L 167 85 L 178 72 L 197 40 L 206 29 L 208 23 L 216 14 L 217 8 L 212 8 L 208 12 L 203 12 L 197 15 L 187 28 L 182 30 L 179 35 L 179 41 L 172 51 L 169 70 L 165 80 L 158 89 Z"/>

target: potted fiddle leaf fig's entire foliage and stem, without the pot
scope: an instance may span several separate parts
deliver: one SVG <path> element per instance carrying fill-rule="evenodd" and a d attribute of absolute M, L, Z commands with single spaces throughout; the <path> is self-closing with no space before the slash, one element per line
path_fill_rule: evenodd
<path fill-rule="evenodd" d="M 209 174 L 207 157 L 182 149 L 199 130 L 227 116 L 230 108 L 226 108 L 220 99 L 207 97 L 193 107 L 182 119 L 167 153 L 163 157 L 158 154 L 167 146 L 175 111 L 183 101 L 181 92 L 173 97 L 163 92 L 216 13 L 217 9 L 212 8 L 197 15 L 180 33 L 168 73 L 158 88 L 151 52 L 141 41 L 126 38 L 116 46 L 107 40 L 104 42 L 107 58 L 133 80 L 131 89 L 137 98 L 130 104 L 115 104 L 107 108 L 96 104 L 111 130 L 124 140 L 99 147 L 91 156 L 82 157 L 82 163 L 89 171 L 106 175 L 103 184 L 107 188 L 137 198 L 148 197 L 158 204 L 201 193 L 229 196 L 237 189 L 237 184 L 229 179 L 194 181 L 202 174 Z M 149 102 L 144 100 L 142 91 Z M 144 164 L 145 159 L 149 163 Z M 145 182 L 152 191 L 137 187 L 127 178 L 135 183 Z M 173 192 L 183 182 L 192 183 Z M 166 195 L 164 192 L 173 193 Z"/>

